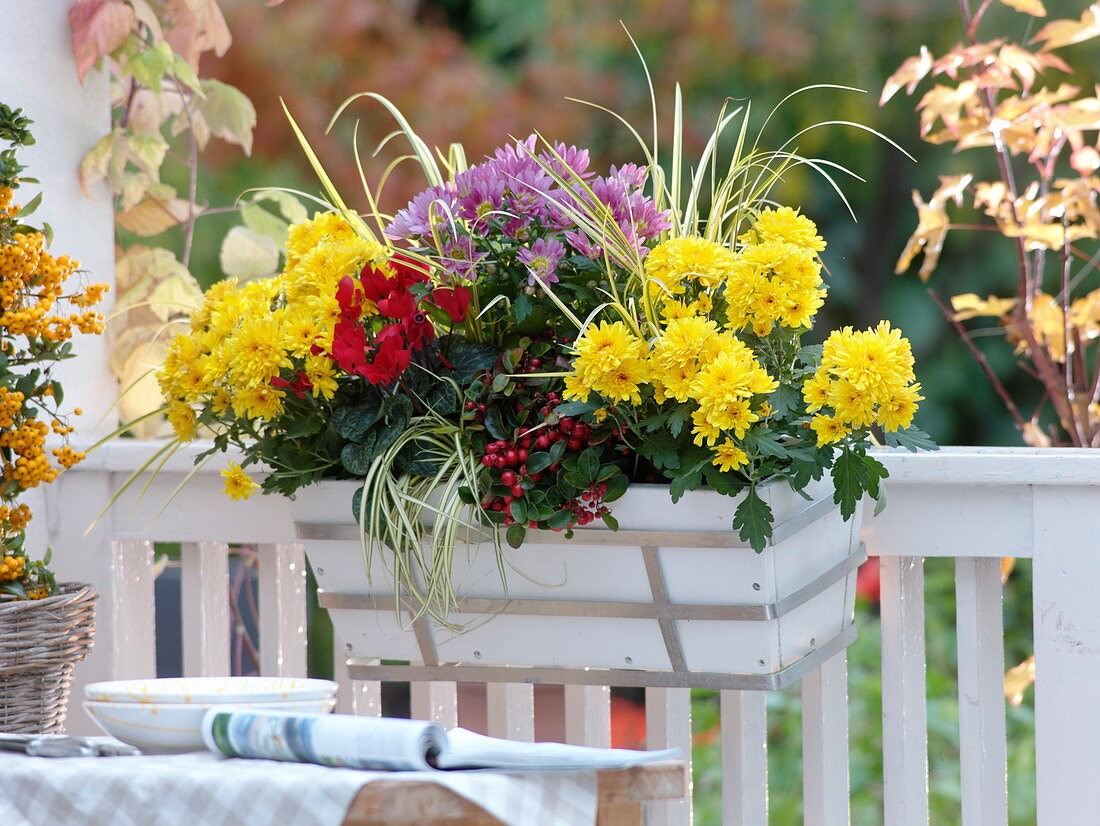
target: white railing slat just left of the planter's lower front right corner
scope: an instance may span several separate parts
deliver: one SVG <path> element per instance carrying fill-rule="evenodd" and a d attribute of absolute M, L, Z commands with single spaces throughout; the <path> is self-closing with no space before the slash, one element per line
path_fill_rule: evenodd
<path fill-rule="evenodd" d="M 768 709 L 765 695 L 721 693 L 722 823 L 768 824 Z"/>

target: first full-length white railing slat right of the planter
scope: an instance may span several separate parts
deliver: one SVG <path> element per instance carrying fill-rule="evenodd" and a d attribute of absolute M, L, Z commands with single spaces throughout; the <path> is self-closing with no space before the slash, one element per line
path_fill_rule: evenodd
<path fill-rule="evenodd" d="M 884 823 L 927 826 L 924 560 L 891 557 L 881 566 Z"/>

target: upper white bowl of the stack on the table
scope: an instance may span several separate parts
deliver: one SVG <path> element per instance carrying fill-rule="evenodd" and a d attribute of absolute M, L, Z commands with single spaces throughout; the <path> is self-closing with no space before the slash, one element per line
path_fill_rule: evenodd
<path fill-rule="evenodd" d="M 112 680 L 84 686 L 84 698 L 107 703 L 255 703 L 336 696 L 330 680 L 289 676 L 177 676 Z"/>

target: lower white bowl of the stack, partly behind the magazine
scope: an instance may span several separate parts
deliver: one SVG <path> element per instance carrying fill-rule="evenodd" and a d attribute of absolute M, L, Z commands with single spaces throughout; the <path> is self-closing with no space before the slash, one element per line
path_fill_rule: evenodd
<path fill-rule="evenodd" d="M 267 708 L 294 714 L 328 714 L 336 697 L 258 700 L 249 703 L 107 703 L 86 700 L 84 707 L 107 734 L 145 753 L 201 751 L 202 716 L 209 708 Z"/>

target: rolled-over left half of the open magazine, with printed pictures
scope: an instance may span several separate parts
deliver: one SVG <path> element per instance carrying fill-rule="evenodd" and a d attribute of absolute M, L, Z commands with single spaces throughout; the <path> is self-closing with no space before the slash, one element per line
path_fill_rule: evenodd
<path fill-rule="evenodd" d="M 420 771 L 435 768 L 447 734 L 426 720 L 211 708 L 202 739 L 227 757 Z"/>

